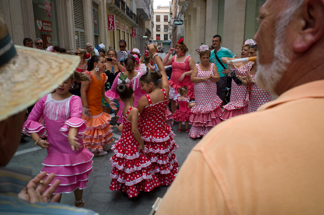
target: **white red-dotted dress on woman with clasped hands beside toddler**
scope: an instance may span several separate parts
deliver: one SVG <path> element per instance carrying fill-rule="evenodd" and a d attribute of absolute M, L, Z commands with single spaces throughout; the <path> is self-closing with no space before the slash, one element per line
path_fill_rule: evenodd
<path fill-rule="evenodd" d="M 211 64 L 210 70 L 203 71 L 199 65 L 197 77 L 214 76 L 214 63 Z M 220 116 L 222 100 L 217 96 L 216 82 L 206 80 L 194 84 L 196 105 L 191 108 L 189 136 L 191 138 L 205 136 L 214 126 L 221 122 Z"/>

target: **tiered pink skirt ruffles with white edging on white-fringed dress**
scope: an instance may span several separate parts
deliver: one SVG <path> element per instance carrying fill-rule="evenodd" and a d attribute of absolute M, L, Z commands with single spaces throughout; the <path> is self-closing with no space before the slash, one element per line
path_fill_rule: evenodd
<path fill-rule="evenodd" d="M 45 167 L 41 172 L 45 171 L 47 175 L 54 173 L 52 182 L 56 179 L 61 181 L 53 194 L 72 193 L 75 189 L 87 187 L 88 177 L 92 171 L 93 154 L 82 149 L 76 154 L 51 153 L 46 156 L 42 163 Z"/>

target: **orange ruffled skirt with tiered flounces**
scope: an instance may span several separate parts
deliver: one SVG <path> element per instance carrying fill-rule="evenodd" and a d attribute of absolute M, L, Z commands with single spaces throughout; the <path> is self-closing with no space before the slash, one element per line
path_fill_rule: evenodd
<path fill-rule="evenodd" d="M 102 146 L 110 144 L 112 139 L 112 125 L 109 124 L 111 117 L 108 113 L 100 113 L 97 116 L 86 116 L 82 114 L 82 119 L 86 121 L 87 131 L 83 138 L 84 146 L 90 152 L 103 151 Z"/>

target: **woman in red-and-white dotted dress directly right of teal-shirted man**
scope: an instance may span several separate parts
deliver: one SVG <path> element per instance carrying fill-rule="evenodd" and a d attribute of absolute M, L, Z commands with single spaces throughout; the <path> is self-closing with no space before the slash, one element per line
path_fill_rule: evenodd
<path fill-rule="evenodd" d="M 252 40 L 253 41 L 253 40 Z M 249 56 L 250 44 L 243 44 L 241 51 L 241 58 L 246 58 Z M 221 58 L 223 63 L 227 63 L 227 60 L 232 58 Z M 248 63 L 237 63 L 235 67 L 231 70 L 235 71 L 237 75 L 244 76 L 245 70 L 250 70 L 253 63 L 250 61 Z M 243 85 L 238 86 L 234 80 L 232 80 L 231 87 L 231 97 L 229 103 L 223 106 L 224 113 L 221 116 L 222 120 L 227 120 L 229 118 L 248 113 L 248 104 L 249 104 L 249 96 L 247 94 L 247 88 Z"/>

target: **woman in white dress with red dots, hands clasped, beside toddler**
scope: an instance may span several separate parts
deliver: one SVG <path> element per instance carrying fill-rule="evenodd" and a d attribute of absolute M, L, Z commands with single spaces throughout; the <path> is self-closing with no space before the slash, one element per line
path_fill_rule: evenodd
<path fill-rule="evenodd" d="M 191 81 L 194 83 L 195 103 L 191 108 L 189 136 L 191 138 L 205 136 L 215 125 L 221 122 L 222 100 L 217 96 L 216 81 L 219 81 L 217 67 L 209 62 L 210 51 L 200 51 L 201 63 L 192 71 Z"/>

